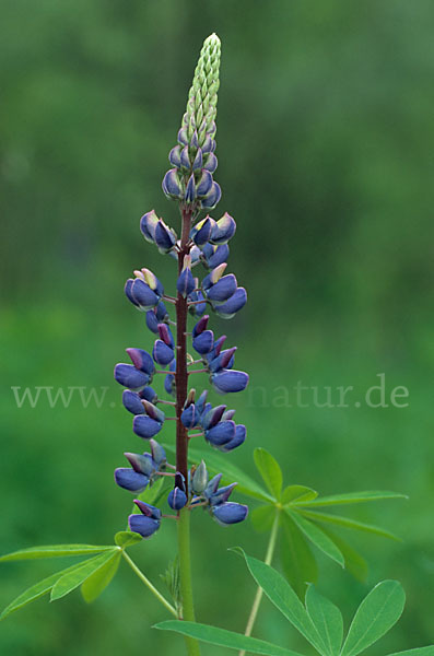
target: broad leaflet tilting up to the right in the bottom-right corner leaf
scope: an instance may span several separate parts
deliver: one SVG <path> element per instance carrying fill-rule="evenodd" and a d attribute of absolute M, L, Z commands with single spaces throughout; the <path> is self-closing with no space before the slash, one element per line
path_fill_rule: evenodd
<path fill-rule="evenodd" d="M 375 643 L 401 617 L 406 594 L 398 581 L 378 583 L 359 606 L 342 648 L 342 656 L 356 656 Z"/>

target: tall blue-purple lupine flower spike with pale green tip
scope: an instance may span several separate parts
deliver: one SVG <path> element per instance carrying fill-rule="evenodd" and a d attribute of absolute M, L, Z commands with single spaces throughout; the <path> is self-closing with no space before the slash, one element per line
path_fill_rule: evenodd
<path fill-rule="evenodd" d="M 208 376 L 218 394 L 242 391 L 248 384 L 248 375 L 234 368 L 236 347 L 224 348 L 226 336 L 216 337 L 209 328 L 211 313 L 230 319 L 247 302 L 246 290 L 226 271 L 228 242 L 236 231 L 234 219 L 227 212 L 219 220 L 208 214 L 200 219 L 200 212 L 213 208 L 221 197 L 212 175 L 216 168 L 219 62 L 220 40 L 212 35 L 204 42 L 195 72 L 178 145 L 169 154 L 174 168 L 163 180 L 166 196 L 179 202 L 180 236 L 154 210 L 140 220 L 144 239 L 178 262 L 176 295 L 167 294 L 146 268 L 134 270 L 125 285 L 127 298 L 144 313 L 154 343 L 150 352 L 127 349 L 131 363 L 117 364 L 115 379 L 126 388 L 122 403 L 133 414 L 132 430 L 149 441 L 151 453 L 126 453 L 130 467 L 116 469 L 115 481 L 140 494 L 160 477 L 173 477 L 174 487 L 167 497 L 172 509 L 179 514 L 183 508 L 203 507 L 218 523 L 228 525 L 242 522 L 248 512 L 247 506 L 228 501 L 236 483 L 219 489 L 222 475 L 209 480 L 203 461 L 187 468 L 191 438 L 203 437 L 223 453 L 237 448 L 246 438 L 246 426 L 234 421 L 235 410 L 212 405 L 208 389 L 197 396 L 189 385 L 191 376 L 199 374 Z M 204 269 L 202 276 L 193 273 L 200 266 Z M 187 351 L 187 337 L 195 355 Z M 164 377 L 161 391 L 151 386 L 157 375 Z M 166 412 L 175 410 L 175 417 L 166 417 L 162 406 Z M 169 420 L 176 421 L 176 466 L 167 462 L 164 448 L 154 440 Z M 162 512 L 140 499 L 134 503 L 139 513 L 129 517 L 129 526 L 148 538 L 159 529 Z"/>

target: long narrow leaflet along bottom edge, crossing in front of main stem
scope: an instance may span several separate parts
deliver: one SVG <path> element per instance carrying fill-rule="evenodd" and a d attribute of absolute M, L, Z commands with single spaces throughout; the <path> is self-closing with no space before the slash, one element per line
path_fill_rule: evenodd
<path fill-rule="evenodd" d="M 257 637 L 247 637 L 241 633 L 218 629 L 216 626 L 208 626 L 207 624 L 198 624 L 196 622 L 167 620 L 155 624 L 154 628 L 162 629 L 163 631 L 175 631 L 176 633 L 196 637 L 197 640 L 220 647 L 238 651 L 246 649 L 246 652 L 251 654 L 263 654 L 265 656 L 301 656 L 296 652 L 272 645 Z"/>

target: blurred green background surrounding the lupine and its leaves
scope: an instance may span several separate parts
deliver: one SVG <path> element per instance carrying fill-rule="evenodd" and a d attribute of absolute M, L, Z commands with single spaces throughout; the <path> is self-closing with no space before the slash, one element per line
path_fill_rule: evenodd
<path fill-rule="evenodd" d="M 223 198 L 212 214 L 237 221 L 230 269 L 249 292 L 218 330 L 251 375 L 250 391 L 228 400 L 248 441 L 227 457 L 254 473 L 261 445 L 288 483 L 409 494 L 349 511 L 403 542 L 350 536 L 368 583 L 320 560 L 319 589 L 348 622 L 370 585 L 398 578 L 404 616 L 372 653 L 432 642 L 432 1 L 3 0 L 0 17 L 1 552 L 105 543 L 124 527 L 131 500 L 112 471 L 140 445 L 113 366 L 152 339 L 122 286 L 141 266 L 172 284 L 139 218 L 155 208 L 178 225 L 161 179 L 201 43 L 216 32 Z M 408 388 L 408 407 L 354 406 L 378 373 L 388 395 Z M 298 380 L 322 389 L 321 402 L 324 387 L 354 386 L 351 405 L 318 408 L 306 393 L 296 407 L 291 391 L 281 407 L 275 388 Z M 108 389 L 101 408 L 78 396 L 50 408 L 44 395 L 17 408 L 11 386 Z M 202 514 L 193 530 L 198 616 L 241 630 L 254 585 L 226 548 L 260 558 L 266 538 Z M 157 581 L 174 527 L 134 549 Z M 2 565 L 1 605 L 62 566 Z M 178 639 L 150 629 L 164 617 L 125 565 L 90 607 L 74 593 L 11 616 L 0 653 L 168 654 Z M 302 649 L 268 601 L 256 635 Z"/>

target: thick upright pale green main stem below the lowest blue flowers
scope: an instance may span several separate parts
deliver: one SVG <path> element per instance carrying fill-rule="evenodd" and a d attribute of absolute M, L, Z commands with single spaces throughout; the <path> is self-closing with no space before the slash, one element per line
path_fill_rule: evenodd
<path fill-rule="evenodd" d="M 187 508 L 179 512 L 178 526 L 178 555 L 180 594 L 183 599 L 183 617 L 179 619 L 195 622 L 195 607 L 192 601 L 191 586 L 191 559 L 190 559 L 190 513 Z M 187 653 L 189 656 L 200 656 L 200 647 L 197 640 L 186 637 Z"/>

